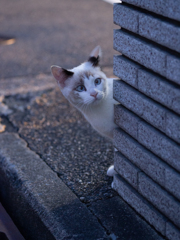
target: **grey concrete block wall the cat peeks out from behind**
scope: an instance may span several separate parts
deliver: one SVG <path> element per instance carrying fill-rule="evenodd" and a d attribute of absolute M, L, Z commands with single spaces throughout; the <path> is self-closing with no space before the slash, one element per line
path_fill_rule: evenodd
<path fill-rule="evenodd" d="M 180 240 L 180 1 L 114 4 L 113 188 Z"/>

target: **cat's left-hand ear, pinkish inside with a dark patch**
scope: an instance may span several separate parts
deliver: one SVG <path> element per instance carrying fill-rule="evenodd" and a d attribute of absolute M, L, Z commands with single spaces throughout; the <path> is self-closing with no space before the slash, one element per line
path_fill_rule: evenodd
<path fill-rule="evenodd" d="M 65 81 L 74 74 L 73 72 L 58 66 L 51 66 L 51 72 L 62 88 L 65 87 Z"/>

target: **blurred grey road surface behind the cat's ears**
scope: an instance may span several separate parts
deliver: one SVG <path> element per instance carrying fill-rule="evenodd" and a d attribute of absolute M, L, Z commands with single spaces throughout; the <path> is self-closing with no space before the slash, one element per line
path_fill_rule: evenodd
<path fill-rule="evenodd" d="M 50 73 L 53 64 L 72 68 L 97 45 L 101 65 L 112 68 L 113 2 L 0 0 L 0 78 Z"/>

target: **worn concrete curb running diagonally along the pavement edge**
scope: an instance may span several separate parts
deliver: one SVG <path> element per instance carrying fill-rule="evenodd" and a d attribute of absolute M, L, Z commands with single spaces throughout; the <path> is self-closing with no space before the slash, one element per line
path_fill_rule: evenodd
<path fill-rule="evenodd" d="M 107 239 L 84 204 L 15 133 L 0 134 L 0 194 L 28 239 Z"/>

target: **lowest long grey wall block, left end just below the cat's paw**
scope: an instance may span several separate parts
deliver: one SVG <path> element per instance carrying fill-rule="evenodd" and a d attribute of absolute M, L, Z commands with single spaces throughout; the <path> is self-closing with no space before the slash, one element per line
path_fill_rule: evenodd
<path fill-rule="evenodd" d="M 147 222 L 154 226 L 162 235 L 165 235 L 165 223 L 167 219 L 119 175 L 114 176 L 113 188 Z"/>

